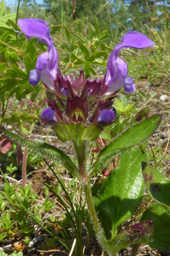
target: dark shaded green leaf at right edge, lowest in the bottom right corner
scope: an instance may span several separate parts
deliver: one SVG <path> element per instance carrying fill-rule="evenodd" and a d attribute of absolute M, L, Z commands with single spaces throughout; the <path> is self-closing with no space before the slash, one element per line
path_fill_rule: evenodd
<path fill-rule="evenodd" d="M 170 208 L 163 204 L 153 204 L 146 209 L 141 220 L 152 220 L 154 225 L 153 240 L 148 244 L 151 247 L 167 252 L 170 250 Z"/>

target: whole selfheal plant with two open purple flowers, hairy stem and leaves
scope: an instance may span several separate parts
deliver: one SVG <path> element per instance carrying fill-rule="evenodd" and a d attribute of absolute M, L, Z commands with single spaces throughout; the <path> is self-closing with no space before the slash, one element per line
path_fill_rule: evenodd
<path fill-rule="evenodd" d="M 105 127 L 114 123 L 116 110 L 111 100 L 116 92 L 123 86 L 126 92 L 135 92 L 135 83 L 132 77 L 127 76 L 127 63 L 119 58 L 119 51 L 126 47 L 150 47 L 153 41 L 142 33 L 126 33 L 111 53 L 103 79 L 85 79 L 83 71 L 75 79 L 61 75 L 58 53 L 48 25 L 43 20 L 18 20 L 18 24 L 28 40 L 35 36 L 48 47 L 46 52 L 38 56 L 35 69 L 30 71 L 29 83 L 34 86 L 40 79 L 43 81 L 47 89 L 48 108 L 42 111 L 41 120 L 51 125 L 59 140 L 72 140 L 77 165 L 58 148 L 18 138 L 2 127 L 1 131 L 27 148 L 35 149 L 51 159 L 59 159 L 77 177 L 85 192 L 95 236 L 107 255 L 116 255 L 130 244 L 149 243 L 154 237 L 152 221 L 131 223 L 124 229 L 121 224 L 137 211 L 143 197 L 145 185 L 141 161 L 146 161 L 146 154 L 145 147 L 137 145 L 157 129 L 161 115 L 155 114 L 145 119 L 147 109 L 137 113 L 129 129 L 103 147 L 89 168 L 85 146 L 88 140 L 96 140 Z M 112 169 L 103 184 L 95 184 L 95 190 L 93 188 L 91 191 L 91 177 L 119 154 L 122 156 L 117 169 Z"/>

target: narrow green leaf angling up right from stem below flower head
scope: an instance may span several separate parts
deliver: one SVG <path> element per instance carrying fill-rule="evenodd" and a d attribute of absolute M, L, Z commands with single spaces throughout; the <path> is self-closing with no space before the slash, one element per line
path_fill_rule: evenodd
<path fill-rule="evenodd" d="M 103 167 L 106 166 L 106 163 L 111 161 L 114 156 L 123 153 L 129 147 L 147 140 L 158 128 L 161 118 L 162 115 L 158 113 L 150 116 L 147 119 L 134 124 L 132 127 L 129 127 L 129 129 L 122 132 L 122 134 L 109 145 L 106 145 L 106 147 L 99 153 L 98 159 L 95 161 L 95 164 L 93 164 L 93 167 L 91 167 L 90 177 L 95 175 L 100 169 L 103 169 Z"/>

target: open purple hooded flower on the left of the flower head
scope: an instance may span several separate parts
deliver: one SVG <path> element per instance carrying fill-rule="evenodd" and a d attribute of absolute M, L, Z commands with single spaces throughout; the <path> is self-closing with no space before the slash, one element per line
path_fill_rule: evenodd
<path fill-rule="evenodd" d="M 48 51 L 38 56 L 35 69 L 30 71 L 29 84 L 36 85 L 41 78 L 43 84 L 48 84 L 48 89 L 54 90 L 54 80 L 57 75 L 59 57 L 51 39 L 48 25 L 45 21 L 36 19 L 18 20 L 18 24 L 25 33 L 27 40 L 35 36 L 38 37 L 38 41 L 48 46 Z"/>

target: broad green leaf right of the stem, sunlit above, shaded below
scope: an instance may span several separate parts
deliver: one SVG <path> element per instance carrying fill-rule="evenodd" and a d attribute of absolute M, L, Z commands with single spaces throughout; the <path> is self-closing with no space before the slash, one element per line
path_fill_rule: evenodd
<path fill-rule="evenodd" d="M 111 223 L 113 223 L 112 232 L 115 234 L 116 227 L 134 214 L 143 198 L 145 183 L 141 161 L 144 159 L 146 154 L 138 147 L 125 152 L 119 160 L 119 167 L 111 171 L 98 192 L 97 198 L 100 203 L 96 211 L 100 215 L 103 228 L 107 230 L 106 237 L 109 239 Z M 111 222 L 105 228 L 106 217 L 109 217 Z"/>

